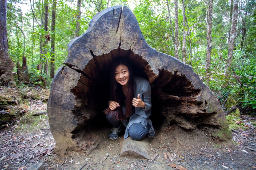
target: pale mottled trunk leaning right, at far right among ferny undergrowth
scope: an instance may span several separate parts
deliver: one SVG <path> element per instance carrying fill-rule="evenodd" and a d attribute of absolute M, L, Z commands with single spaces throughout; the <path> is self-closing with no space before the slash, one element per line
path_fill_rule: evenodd
<path fill-rule="evenodd" d="M 238 0 L 234 0 L 233 2 L 233 16 L 232 16 L 232 23 L 231 23 L 231 31 L 230 31 L 230 40 L 229 40 L 229 51 L 227 53 L 227 63 L 226 63 L 226 80 L 230 77 L 230 67 L 233 58 L 233 50 L 234 50 L 234 42 L 235 42 L 235 35 L 237 31 L 237 15 L 238 15 Z M 226 85 L 228 81 L 226 82 Z"/>

